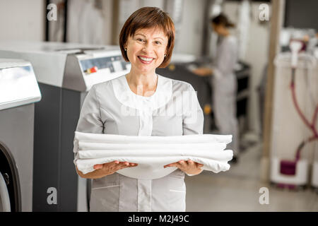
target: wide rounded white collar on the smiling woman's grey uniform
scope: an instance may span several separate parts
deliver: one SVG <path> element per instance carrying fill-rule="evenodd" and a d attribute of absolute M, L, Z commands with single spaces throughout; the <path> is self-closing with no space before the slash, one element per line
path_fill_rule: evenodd
<path fill-rule="evenodd" d="M 120 76 L 112 80 L 114 95 L 122 105 L 139 110 L 146 110 L 147 107 L 151 110 L 163 107 L 172 97 L 172 80 L 158 74 L 157 76 L 157 88 L 155 93 L 150 97 L 143 97 L 132 92 L 127 83 L 126 76 Z"/>

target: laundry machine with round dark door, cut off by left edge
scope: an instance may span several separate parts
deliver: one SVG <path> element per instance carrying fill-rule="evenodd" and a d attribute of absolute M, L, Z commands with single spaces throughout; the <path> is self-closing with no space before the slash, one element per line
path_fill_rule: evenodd
<path fill-rule="evenodd" d="M 0 59 L 0 212 L 32 211 L 35 102 L 33 66 Z"/>

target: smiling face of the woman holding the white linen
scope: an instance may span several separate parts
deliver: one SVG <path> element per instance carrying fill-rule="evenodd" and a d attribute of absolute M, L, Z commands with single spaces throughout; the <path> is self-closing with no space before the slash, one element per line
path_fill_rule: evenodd
<path fill-rule="evenodd" d="M 138 73 L 154 73 L 165 58 L 167 36 L 158 28 L 139 29 L 128 38 L 125 47 L 131 69 Z"/>

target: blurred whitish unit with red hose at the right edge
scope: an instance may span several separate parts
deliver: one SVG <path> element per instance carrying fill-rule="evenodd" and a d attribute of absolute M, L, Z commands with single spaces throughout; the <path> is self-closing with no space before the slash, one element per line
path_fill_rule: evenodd
<path fill-rule="evenodd" d="M 318 152 L 317 59 L 305 52 L 295 57 L 296 66 L 290 52 L 275 59 L 271 133 L 271 182 L 289 189 L 307 186 Z"/>

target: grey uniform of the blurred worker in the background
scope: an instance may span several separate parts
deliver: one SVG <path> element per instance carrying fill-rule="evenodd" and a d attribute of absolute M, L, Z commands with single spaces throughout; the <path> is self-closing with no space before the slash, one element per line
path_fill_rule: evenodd
<path fill-rule="evenodd" d="M 215 64 L 213 64 L 213 109 L 216 126 L 220 134 L 232 134 L 229 144 L 236 155 L 240 153 L 239 129 L 236 118 L 237 78 L 237 40 L 234 36 L 223 37 L 218 44 Z"/>

